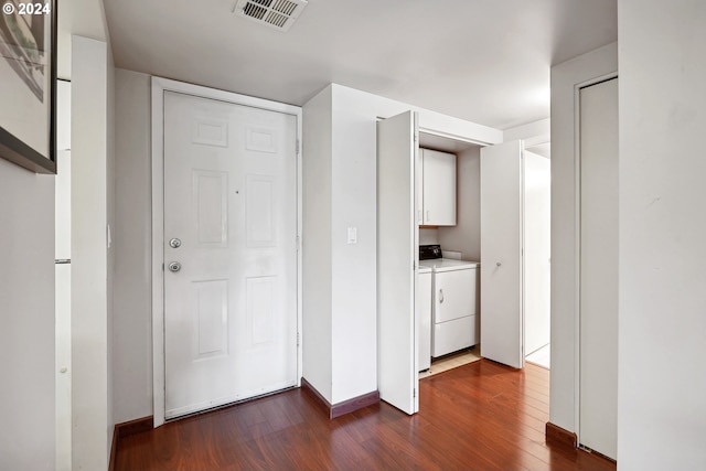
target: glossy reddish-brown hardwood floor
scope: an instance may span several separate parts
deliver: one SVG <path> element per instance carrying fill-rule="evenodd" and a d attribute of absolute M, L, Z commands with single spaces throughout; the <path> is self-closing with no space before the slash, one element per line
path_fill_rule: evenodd
<path fill-rule="evenodd" d="M 292 389 L 120 438 L 116 471 L 614 470 L 545 443 L 549 372 L 481 360 L 422 379 L 419 414 L 386 403 L 329 420 Z"/>

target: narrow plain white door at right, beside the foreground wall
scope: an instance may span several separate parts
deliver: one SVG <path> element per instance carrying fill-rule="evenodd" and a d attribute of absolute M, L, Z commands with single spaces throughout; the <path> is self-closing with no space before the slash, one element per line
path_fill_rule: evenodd
<path fill-rule="evenodd" d="M 618 447 L 618 79 L 580 90 L 579 442 Z"/>

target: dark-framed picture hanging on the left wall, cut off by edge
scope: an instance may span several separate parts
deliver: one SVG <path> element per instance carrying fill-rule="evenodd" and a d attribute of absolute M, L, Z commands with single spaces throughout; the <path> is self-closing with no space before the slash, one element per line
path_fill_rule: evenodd
<path fill-rule="evenodd" d="M 56 173 L 56 0 L 0 0 L 0 157 Z"/>

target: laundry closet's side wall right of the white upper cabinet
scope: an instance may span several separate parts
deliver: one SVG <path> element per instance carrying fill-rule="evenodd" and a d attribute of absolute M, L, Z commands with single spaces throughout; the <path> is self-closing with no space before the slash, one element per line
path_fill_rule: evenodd
<path fill-rule="evenodd" d="M 457 225 L 439 227 L 439 244 L 460 251 L 463 260 L 481 259 L 481 151 L 471 148 L 457 154 Z"/>

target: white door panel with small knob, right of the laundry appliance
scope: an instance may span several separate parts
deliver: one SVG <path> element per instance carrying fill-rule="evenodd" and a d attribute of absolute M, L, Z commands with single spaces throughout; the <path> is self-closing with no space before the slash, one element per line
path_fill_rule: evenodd
<path fill-rule="evenodd" d="M 522 141 L 481 149 L 481 354 L 524 366 Z"/>

